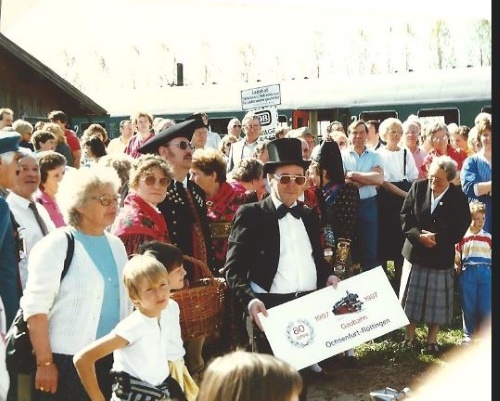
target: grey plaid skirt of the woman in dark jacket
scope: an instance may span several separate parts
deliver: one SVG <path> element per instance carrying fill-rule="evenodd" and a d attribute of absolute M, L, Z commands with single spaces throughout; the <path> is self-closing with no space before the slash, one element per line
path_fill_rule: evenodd
<path fill-rule="evenodd" d="M 434 270 L 404 260 L 400 301 L 411 322 L 450 325 L 453 299 L 453 268 Z"/>

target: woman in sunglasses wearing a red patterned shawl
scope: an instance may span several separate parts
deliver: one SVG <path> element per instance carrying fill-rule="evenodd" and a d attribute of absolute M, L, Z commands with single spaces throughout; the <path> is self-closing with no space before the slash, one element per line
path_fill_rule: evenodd
<path fill-rule="evenodd" d="M 160 156 L 140 156 L 130 173 L 129 193 L 111 232 L 125 244 L 127 254 L 138 253 L 142 243 L 171 242 L 158 204 L 167 196 L 172 181 L 168 163 Z"/>

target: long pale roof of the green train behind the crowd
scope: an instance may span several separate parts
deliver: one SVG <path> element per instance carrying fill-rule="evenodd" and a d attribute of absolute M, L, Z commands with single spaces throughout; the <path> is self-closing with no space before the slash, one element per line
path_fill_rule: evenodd
<path fill-rule="evenodd" d="M 276 82 L 268 83 L 276 84 Z M 335 75 L 321 79 L 280 82 L 281 110 L 445 103 L 491 102 L 491 67 L 428 70 L 377 75 Z M 138 110 L 153 115 L 187 115 L 195 112 L 241 111 L 241 91 L 265 86 L 173 86 L 154 91 L 128 91 L 108 105 L 111 116 Z M 115 94 L 116 95 L 116 94 Z"/>

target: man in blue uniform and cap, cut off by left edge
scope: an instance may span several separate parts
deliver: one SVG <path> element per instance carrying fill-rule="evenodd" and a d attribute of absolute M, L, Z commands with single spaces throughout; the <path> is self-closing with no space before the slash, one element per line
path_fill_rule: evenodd
<path fill-rule="evenodd" d="M 21 159 L 17 132 L 0 132 L 0 186 L 11 188 L 16 182 L 18 163 Z M 21 297 L 19 280 L 19 255 L 12 215 L 4 197 L 0 195 L 0 298 L 4 303 L 7 327 L 10 327 Z"/>

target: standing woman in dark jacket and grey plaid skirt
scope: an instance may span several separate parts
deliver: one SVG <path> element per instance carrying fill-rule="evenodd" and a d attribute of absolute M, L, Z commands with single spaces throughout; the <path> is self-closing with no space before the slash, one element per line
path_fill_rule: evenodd
<path fill-rule="evenodd" d="M 410 321 L 404 346 L 415 348 L 418 324 L 428 327 L 424 352 L 439 354 L 437 336 L 454 316 L 455 244 L 471 222 L 467 196 L 452 184 L 456 162 L 437 156 L 428 179 L 413 182 L 401 208 L 405 258 L 399 298 Z"/>

